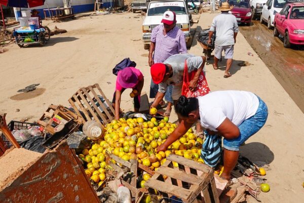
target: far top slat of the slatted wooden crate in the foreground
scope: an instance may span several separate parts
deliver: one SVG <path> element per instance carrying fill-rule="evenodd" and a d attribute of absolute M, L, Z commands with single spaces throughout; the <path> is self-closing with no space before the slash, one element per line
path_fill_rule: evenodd
<path fill-rule="evenodd" d="M 171 160 L 171 161 L 175 161 L 176 163 L 178 163 L 178 165 L 181 164 L 183 166 L 187 166 L 189 168 L 193 168 L 193 169 L 196 169 L 196 170 L 202 171 L 204 173 L 208 173 L 208 174 L 209 174 L 210 170 L 212 170 L 211 167 L 209 167 L 205 164 L 200 164 L 194 160 L 186 159 L 184 157 L 181 157 L 181 156 L 178 156 L 175 154 L 170 154 L 167 157 L 167 159 Z"/>

